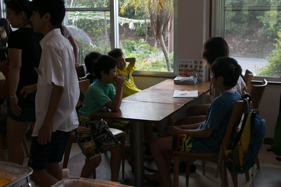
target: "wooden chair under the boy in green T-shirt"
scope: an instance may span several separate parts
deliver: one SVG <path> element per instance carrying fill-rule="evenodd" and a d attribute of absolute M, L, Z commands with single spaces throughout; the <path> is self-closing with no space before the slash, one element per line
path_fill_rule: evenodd
<path fill-rule="evenodd" d="M 88 79 L 86 79 L 84 81 L 79 81 L 79 89 L 84 95 L 86 94 L 89 86 L 90 86 L 90 81 Z M 79 99 L 76 107 L 80 106 L 82 103 L 83 103 L 83 101 L 81 101 Z M 116 137 L 116 139 L 118 141 L 120 141 L 120 144 L 121 144 L 122 177 L 124 178 L 124 171 L 125 171 L 125 169 L 124 169 L 125 168 L 125 132 L 123 132 L 121 130 L 118 130 L 118 129 L 113 129 L 113 128 L 109 128 L 109 129 L 112 132 L 112 134 Z M 74 132 L 70 133 L 67 145 L 65 147 L 62 169 L 67 168 L 72 143 L 77 143 Z M 93 172 L 93 177 L 94 178 L 96 177 L 95 172 Z"/>

